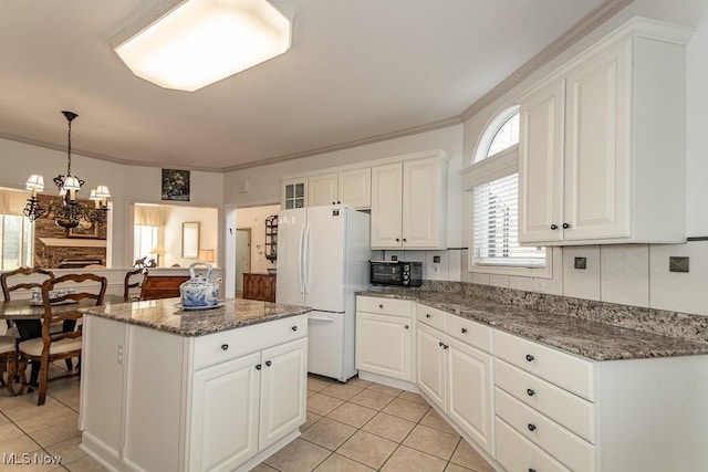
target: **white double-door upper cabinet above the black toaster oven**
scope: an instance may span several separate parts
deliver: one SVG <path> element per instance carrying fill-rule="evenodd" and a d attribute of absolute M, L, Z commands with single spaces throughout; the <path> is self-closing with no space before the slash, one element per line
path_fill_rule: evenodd
<path fill-rule="evenodd" d="M 447 248 L 447 162 L 435 153 L 372 167 L 372 249 Z"/>

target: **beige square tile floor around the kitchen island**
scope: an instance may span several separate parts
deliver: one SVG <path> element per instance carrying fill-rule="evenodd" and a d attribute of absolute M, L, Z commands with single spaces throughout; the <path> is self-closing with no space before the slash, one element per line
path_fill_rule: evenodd
<path fill-rule="evenodd" d="M 310 376 L 308 396 L 302 436 L 254 471 L 493 471 L 416 394 Z M 42 407 L 35 392 L 10 397 L 1 390 L 0 471 L 104 470 L 79 449 L 77 421 L 77 377 L 52 381 Z M 15 463 L 9 464 L 12 453 Z M 19 463 L 25 458 L 30 463 Z"/>

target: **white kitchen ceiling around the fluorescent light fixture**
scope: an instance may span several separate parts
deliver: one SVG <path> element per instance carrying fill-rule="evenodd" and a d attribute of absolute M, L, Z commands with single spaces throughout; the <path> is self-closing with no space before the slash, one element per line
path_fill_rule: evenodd
<path fill-rule="evenodd" d="M 2 0 L 0 136 L 228 170 L 457 118 L 602 0 L 293 0 L 292 49 L 197 92 L 134 76 L 111 38 L 158 0 Z"/>

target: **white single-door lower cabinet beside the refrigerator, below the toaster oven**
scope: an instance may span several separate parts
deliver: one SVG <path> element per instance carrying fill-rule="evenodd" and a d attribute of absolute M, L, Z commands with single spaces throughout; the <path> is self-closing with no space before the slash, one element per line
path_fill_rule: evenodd
<path fill-rule="evenodd" d="M 413 302 L 356 297 L 356 368 L 413 381 Z"/>

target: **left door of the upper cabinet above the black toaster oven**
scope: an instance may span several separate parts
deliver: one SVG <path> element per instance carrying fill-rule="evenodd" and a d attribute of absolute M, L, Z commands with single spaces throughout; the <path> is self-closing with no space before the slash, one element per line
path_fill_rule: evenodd
<path fill-rule="evenodd" d="M 372 249 L 400 248 L 400 164 L 372 168 Z"/>

